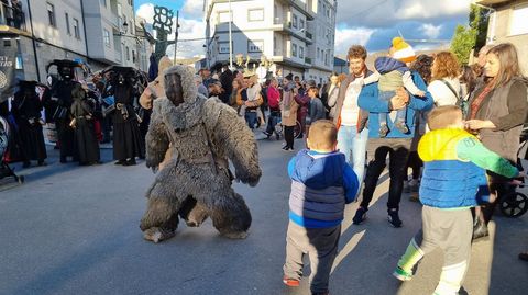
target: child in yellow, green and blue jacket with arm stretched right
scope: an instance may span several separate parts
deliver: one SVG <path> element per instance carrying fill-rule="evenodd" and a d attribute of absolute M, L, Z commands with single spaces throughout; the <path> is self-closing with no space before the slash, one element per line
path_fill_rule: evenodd
<path fill-rule="evenodd" d="M 444 251 L 444 266 L 433 294 L 458 294 L 471 253 L 470 208 L 488 196 L 484 169 L 506 178 L 520 173 L 464 131 L 458 106 L 433 109 L 428 124 L 431 132 L 418 144 L 425 167 L 419 191 L 424 204 L 422 229 L 410 241 L 393 275 L 400 281 L 410 280 L 418 261 L 440 247 Z"/>

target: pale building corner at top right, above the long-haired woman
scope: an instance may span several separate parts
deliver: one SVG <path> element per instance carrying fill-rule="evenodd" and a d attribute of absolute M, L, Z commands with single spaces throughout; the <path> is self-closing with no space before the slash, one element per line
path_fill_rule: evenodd
<path fill-rule="evenodd" d="M 509 42 L 517 47 L 522 73 L 528 75 L 528 0 L 477 0 L 491 10 L 487 44 Z"/>

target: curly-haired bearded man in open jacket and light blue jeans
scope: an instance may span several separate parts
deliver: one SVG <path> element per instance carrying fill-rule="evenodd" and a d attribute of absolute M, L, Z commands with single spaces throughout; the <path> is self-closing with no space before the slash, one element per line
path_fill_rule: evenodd
<path fill-rule="evenodd" d="M 340 125 L 338 149 L 344 154 L 346 162 L 353 168 L 361 183 L 365 170 L 365 148 L 369 131 L 364 126 L 359 126 L 360 117 L 367 115 L 367 113 L 360 110 L 358 98 L 363 87 L 363 78 L 370 76 L 372 71 L 366 68 L 366 49 L 361 45 L 350 47 L 346 59 L 350 65 L 350 75 L 341 82 L 339 88 L 333 123 Z"/>

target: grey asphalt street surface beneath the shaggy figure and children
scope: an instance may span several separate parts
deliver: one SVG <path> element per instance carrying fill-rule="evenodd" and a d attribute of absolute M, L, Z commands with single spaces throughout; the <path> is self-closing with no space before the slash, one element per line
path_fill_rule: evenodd
<path fill-rule="evenodd" d="M 257 135 L 261 136 L 261 135 Z M 234 184 L 253 215 L 250 236 L 230 240 L 208 220 L 200 228 L 180 224 L 175 238 L 143 240 L 139 223 L 144 193 L 154 174 L 140 161 L 114 166 L 111 149 L 103 164 L 59 164 L 20 171 L 22 185 L 0 186 L 0 294 L 309 294 L 282 283 L 288 224 L 287 161 L 282 143 L 258 140 L 263 177 L 256 188 Z M 296 140 L 296 149 L 302 145 Z M 205 183 L 204 185 L 207 185 Z M 388 178 L 380 180 L 367 220 L 351 225 L 358 207 L 346 207 L 331 294 L 431 294 L 442 265 L 441 251 L 426 257 L 415 277 L 400 284 L 391 273 L 420 227 L 420 204 L 404 194 L 403 228 L 386 219 Z M 527 294 L 528 214 L 509 219 L 497 213 L 492 239 L 473 245 L 464 291 L 468 294 Z M 494 241 L 494 242 L 493 242 Z"/>

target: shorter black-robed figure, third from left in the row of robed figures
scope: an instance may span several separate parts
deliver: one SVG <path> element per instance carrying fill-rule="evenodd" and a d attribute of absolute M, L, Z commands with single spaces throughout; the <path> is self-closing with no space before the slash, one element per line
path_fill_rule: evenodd
<path fill-rule="evenodd" d="M 94 107 L 89 104 L 86 91 L 80 84 L 72 90 L 72 122 L 74 140 L 79 164 L 96 164 L 100 162 L 99 143 L 95 131 Z"/>

